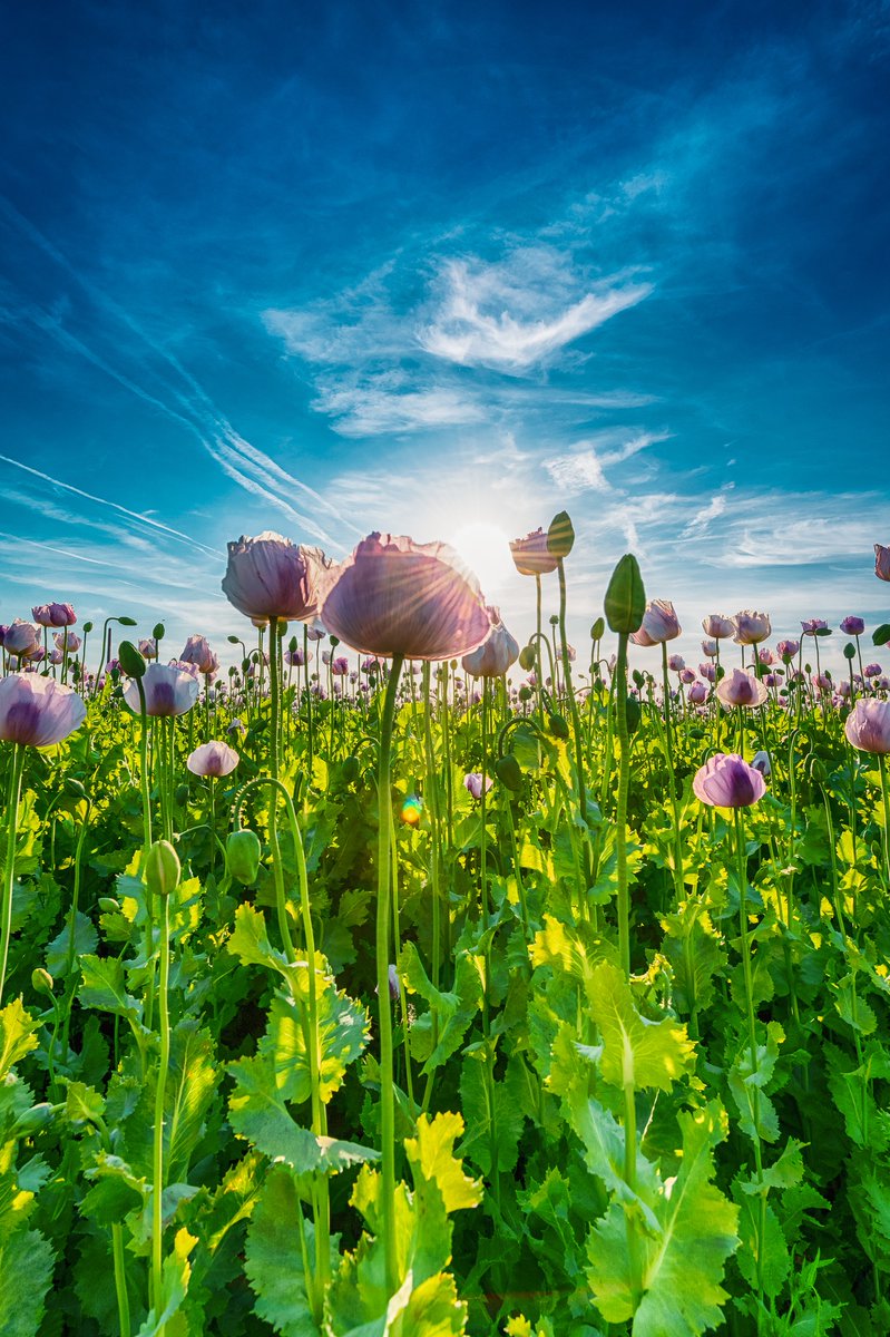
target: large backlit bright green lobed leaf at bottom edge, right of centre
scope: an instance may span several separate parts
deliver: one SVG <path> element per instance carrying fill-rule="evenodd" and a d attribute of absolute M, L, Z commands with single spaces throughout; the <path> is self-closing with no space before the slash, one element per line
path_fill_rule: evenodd
<path fill-rule="evenodd" d="M 714 1147 L 726 1136 L 726 1112 L 714 1100 L 680 1114 L 678 1122 L 680 1170 L 651 1205 L 657 1229 L 633 1226 L 636 1266 L 619 1203 L 588 1237 L 588 1280 L 600 1313 L 608 1322 L 633 1318 L 633 1337 L 699 1337 L 723 1321 L 720 1306 L 728 1298 L 720 1281 L 738 1245 L 739 1211 L 710 1182 Z M 636 1222 L 633 1215 L 629 1219 Z"/>

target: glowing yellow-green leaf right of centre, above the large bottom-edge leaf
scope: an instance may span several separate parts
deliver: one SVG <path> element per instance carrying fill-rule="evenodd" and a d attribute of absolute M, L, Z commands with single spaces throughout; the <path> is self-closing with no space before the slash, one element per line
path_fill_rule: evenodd
<path fill-rule="evenodd" d="M 617 967 L 608 961 L 596 967 L 588 997 L 603 1038 L 600 1068 L 612 1086 L 670 1091 L 690 1071 L 695 1044 L 687 1036 L 686 1025 L 671 1017 L 649 1021 L 640 1016 Z"/>

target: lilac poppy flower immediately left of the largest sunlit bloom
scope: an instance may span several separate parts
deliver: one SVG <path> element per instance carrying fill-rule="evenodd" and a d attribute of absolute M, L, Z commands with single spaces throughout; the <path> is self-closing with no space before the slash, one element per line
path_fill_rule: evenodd
<path fill-rule="evenodd" d="M 321 548 L 295 547 L 266 531 L 229 544 L 222 588 L 246 618 L 307 620 L 318 612 L 330 566 Z"/>

